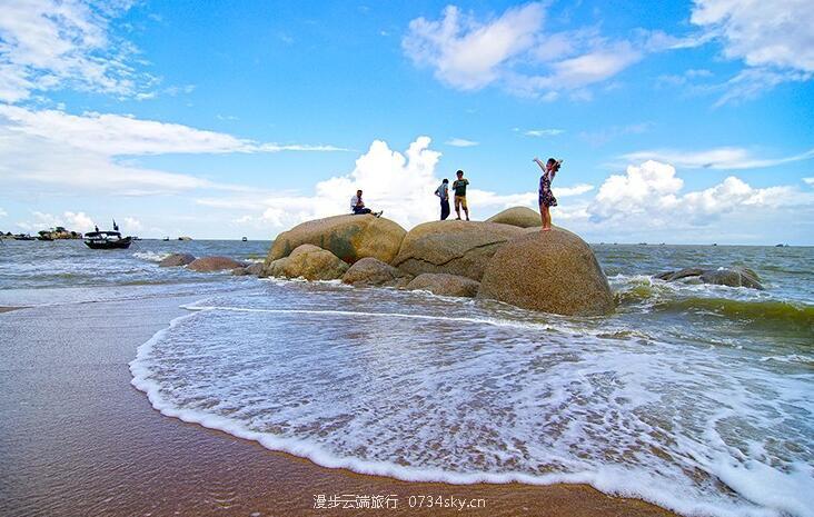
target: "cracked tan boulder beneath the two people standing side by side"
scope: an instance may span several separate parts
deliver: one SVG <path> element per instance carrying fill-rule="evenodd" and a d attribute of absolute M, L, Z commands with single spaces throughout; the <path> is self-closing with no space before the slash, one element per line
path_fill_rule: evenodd
<path fill-rule="evenodd" d="M 405 236 L 390 264 L 414 276 L 445 272 L 480 280 L 495 251 L 524 231 L 497 222 L 425 222 Z"/>

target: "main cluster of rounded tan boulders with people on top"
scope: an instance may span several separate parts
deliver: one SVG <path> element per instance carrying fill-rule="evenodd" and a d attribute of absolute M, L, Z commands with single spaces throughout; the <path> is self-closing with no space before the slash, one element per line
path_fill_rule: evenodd
<path fill-rule="evenodd" d="M 336 216 L 280 233 L 260 276 L 336 280 L 495 299 L 594 316 L 614 298 L 590 247 L 539 215 L 513 208 L 489 221 L 434 221 L 406 231 L 373 216 Z"/>

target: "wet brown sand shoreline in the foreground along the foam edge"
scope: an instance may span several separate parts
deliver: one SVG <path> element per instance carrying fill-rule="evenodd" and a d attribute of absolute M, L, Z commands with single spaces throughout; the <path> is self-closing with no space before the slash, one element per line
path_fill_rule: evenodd
<path fill-rule="evenodd" d="M 0 320 L 0 514 L 673 515 L 580 485 L 410 483 L 328 469 L 165 417 L 130 386 L 128 362 L 193 300 L 33 307 Z M 396 496 L 396 508 L 315 508 L 321 496 L 326 506 L 331 496 Z M 419 496 L 483 506 L 410 507 Z"/>

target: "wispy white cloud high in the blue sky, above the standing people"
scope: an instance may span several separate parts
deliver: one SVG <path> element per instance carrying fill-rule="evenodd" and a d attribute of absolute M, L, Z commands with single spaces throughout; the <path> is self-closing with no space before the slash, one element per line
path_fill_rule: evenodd
<path fill-rule="evenodd" d="M 616 76 L 642 58 L 627 41 L 593 30 L 543 31 L 545 7 L 532 2 L 478 20 L 448 6 L 440 20 L 417 18 L 401 47 L 413 62 L 461 90 L 498 83 L 523 96 L 554 100 L 560 91 L 589 98 L 585 87 Z"/>

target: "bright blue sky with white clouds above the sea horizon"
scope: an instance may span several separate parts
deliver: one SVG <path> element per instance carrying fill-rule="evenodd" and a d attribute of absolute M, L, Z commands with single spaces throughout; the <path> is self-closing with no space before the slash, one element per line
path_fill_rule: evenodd
<path fill-rule="evenodd" d="M 6 1 L 0 229 L 410 227 L 458 168 L 486 219 L 554 156 L 590 241 L 814 245 L 805 3 Z"/>

